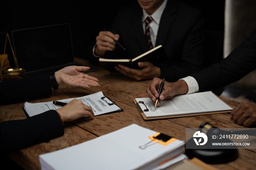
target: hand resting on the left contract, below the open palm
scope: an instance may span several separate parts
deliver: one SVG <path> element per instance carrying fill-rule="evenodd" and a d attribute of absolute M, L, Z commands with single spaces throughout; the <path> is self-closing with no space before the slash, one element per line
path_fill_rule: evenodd
<path fill-rule="evenodd" d="M 82 116 L 89 116 L 94 118 L 93 109 L 90 106 L 86 106 L 82 101 L 73 99 L 60 109 L 56 109 L 60 113 L 62 121 L 73 121 L 79 119 Z"/>

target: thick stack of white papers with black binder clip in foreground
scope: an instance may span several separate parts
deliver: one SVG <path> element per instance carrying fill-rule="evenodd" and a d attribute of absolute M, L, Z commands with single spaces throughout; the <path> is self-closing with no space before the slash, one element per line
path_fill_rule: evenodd
<path fill-rule="evenodd" d="M 139 148 L 151 141 L 148 136 L 156 133 L 132 124 L 87 142 L 39 155 L 41 169 L 159 170 L 186 158 L 182 154 L 185 143 L 178 139 L 167 145 L 155 143 L 146 149 Z M 171 162 L 166 161 L 176 155 L 179 156 Z M 159 166 L 159 163 L 165 161 L 166 164 Z"/>

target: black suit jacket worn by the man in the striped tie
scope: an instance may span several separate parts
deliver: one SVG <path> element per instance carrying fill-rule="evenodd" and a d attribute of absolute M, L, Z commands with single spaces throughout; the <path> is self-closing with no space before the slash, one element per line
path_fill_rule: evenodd
<path fill-rule="evenodd" d="M 120 10 L 109 31 L 120 35 L 120 43 L 103 58 L 132 59 L 148 51 L 142 27 L 142 8 L 138 2 Z M 203 68 L 203 18 L 193 7 L 176 0 L 168 0 L 163 11 L 156 45 L 162 45 L 168 60 L 157 65 L 161 78 L 177 81 Z M 153 63 L 154 64 L 154 63 Z"/>

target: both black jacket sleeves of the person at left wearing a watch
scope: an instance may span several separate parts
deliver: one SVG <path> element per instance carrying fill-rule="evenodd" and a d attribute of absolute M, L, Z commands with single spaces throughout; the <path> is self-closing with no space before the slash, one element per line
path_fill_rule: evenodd
<path fill-rule="evenodd" d="M 0 82 L 0 104 L 26 101 L 52 93 L 49 74 Z M 62 121 L 54 110 L 25 120 L 0 123 L 0 157 L 64 134 Z"/>

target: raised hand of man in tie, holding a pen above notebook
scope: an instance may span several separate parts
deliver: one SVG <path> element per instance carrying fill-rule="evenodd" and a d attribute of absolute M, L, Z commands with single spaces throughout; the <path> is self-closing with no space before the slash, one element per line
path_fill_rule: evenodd
<path fill-rule="evenodd" d="M 114 35 L 110 31 L 101 31 L 99 35 L 96 37 L 96 47 L 94 54 L 98 56 L 102 56 L 106 53 L 106 51 L 113 51 L 116 48 L 115 40 L 119 39 L 119 35 Z"/>

